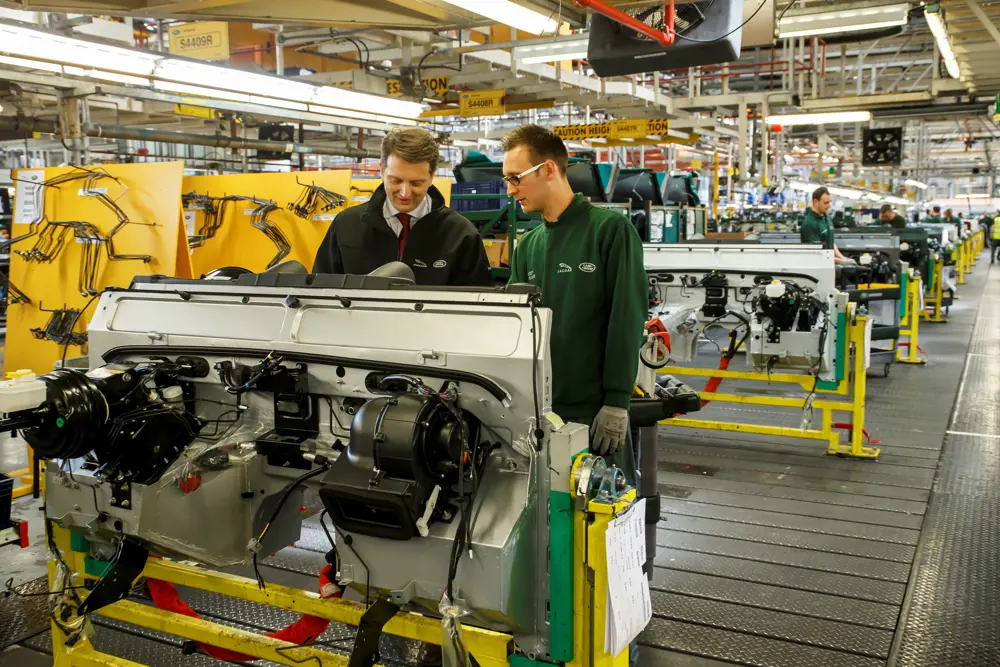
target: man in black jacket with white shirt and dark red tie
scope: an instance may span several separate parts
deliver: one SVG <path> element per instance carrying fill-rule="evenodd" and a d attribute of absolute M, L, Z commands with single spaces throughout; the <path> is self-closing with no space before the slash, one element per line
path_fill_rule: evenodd
<path fill-rule="evenodd" d="M 479 232 L 433 185 L 437 164 L 430 132 L 390 131 L 382 140 L 382 185 L 367 203 L 337 214 L 313 273 L 366 274 L 402 261 L 418 285 L 492 285 Z"/>

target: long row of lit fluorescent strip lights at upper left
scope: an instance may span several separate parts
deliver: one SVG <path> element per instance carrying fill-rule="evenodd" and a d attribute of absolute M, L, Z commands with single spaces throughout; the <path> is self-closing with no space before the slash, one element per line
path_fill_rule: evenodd
<path fill-rule="evenodd" d="M 402 119 L 403 124 L 413 124 L 424 109 L 418 102 L 314 86 L 270 74 L 107 46 L 6 23 L 0 23 L 0 64 L 62 71 L 72 76 L 279 109 L 305 111 L 315 103 L 332 108 L 331 112 L 337 111 L 338 116 L 367 112 L 388 123 Z"/>

